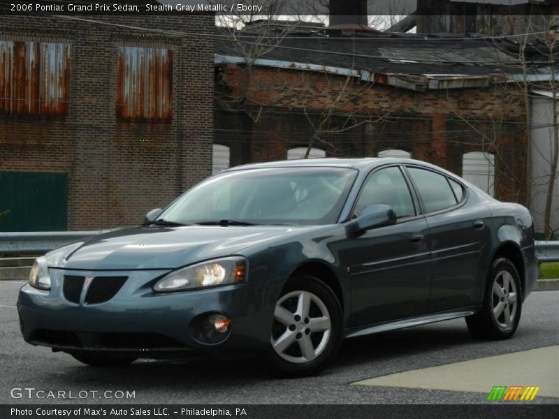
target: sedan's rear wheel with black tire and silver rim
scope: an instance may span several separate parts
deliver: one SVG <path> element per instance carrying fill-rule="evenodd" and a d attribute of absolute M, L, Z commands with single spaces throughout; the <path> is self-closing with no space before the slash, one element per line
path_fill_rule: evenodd
<path fill-rule="evenodd" d="M 509 339 L 522 312 L 522 286 L 514 264 L 507 258 L 493 261 L 489 269 L 483 308 L 466 318 L 474 337 Z"/>

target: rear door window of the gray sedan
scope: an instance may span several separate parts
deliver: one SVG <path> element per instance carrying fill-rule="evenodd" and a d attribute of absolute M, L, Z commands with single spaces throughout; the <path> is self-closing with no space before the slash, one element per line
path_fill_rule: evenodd
<path fill-rule="evenodd" d="M 444 208 L 456 205 L 456 198 L 454 198 L 446 176 L 418 168 L 408 168 L 407 170 L 419 189 L 426 212 L 444 210 Z"/>

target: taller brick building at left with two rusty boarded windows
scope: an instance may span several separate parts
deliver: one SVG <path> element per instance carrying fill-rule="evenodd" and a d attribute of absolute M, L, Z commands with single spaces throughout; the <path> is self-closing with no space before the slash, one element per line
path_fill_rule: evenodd
<path fill-rule="evenodd" d="M 138 224 L 211 173 L 215 16 L 80 18 L 0 15 L 0 230 Z"/>

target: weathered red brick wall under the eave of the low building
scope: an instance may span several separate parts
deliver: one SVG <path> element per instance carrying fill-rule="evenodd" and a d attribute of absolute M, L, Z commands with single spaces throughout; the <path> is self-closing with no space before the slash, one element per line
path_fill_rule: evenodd
<path fill-rule="evenodd" d="M 216 141 L 229 145 L 232 153 L 249 147 L 245 159 L 234 159 L 233 165 L 286 159 L 289 148 L 308 145 L 334 104 L 333 113 L 351 117 L 326 118 L 325 132 L 314 145 L 328 156 L 377 156 L 382 149 L 405 149 L 414 159 L 462 175 L 463 154 L 491 152 L 495 195 L 524 202 L 525 113 L 515 87 L 412 91 L 346 82 L 341 75 L 221 66 L 217 97 L 246 99 L 234 107 L 220 106 Z M 242 132 L 237 131 L 240 121 Z"/>

